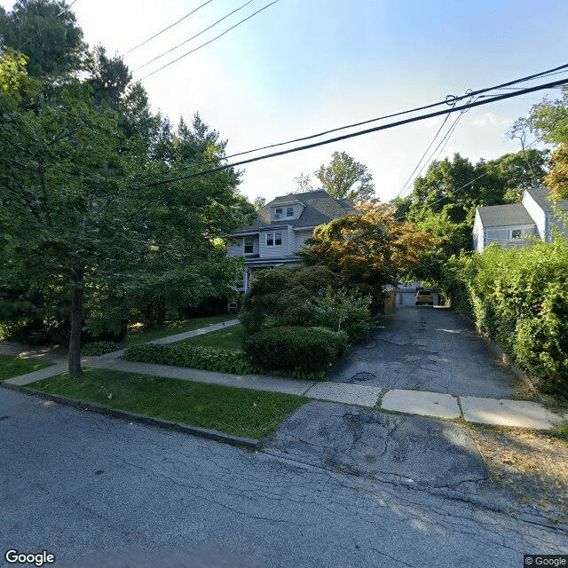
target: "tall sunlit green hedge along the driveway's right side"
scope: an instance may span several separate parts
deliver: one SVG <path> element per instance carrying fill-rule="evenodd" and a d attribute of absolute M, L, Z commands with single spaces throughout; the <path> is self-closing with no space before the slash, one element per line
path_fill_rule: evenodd
<path fill-rule="evenodd" d="M 568 396 L 568 241 L 461 256 L 442 286 L 541 391 Z"/>

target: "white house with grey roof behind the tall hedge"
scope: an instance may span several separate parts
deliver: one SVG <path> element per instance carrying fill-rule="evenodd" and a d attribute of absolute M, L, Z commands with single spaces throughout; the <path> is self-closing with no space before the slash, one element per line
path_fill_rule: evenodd
<path fill-rule="evenodd" d="M 507 248 L 522 246 L 527 237 L 550 242 L 555 226 L 564 231 L 555 217 L 554 207 L 548 200 L 546 187 L 526 190 L 520 203 L 478 207 L 473 224 L 473 249 L 483 252 L 492 242 Z M 556 207 L 568 211 L 568 200 L 557 201 Z"/>

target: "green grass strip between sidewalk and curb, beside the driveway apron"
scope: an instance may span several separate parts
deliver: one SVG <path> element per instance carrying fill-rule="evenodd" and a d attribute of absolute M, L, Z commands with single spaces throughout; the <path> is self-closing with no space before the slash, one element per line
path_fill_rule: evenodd
<path fill-rule="evenodd" d="M 309 398 L 262 390 L 234 389 L 151 375 L 84 369 L 70 380 L 58 375 L 31 389 L 98 402 L 234 436 L 264 438 Z"/>

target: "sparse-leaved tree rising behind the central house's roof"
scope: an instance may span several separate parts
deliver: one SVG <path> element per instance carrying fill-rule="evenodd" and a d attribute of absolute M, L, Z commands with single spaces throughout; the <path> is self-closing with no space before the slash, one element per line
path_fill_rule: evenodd
<path fill-rule="evenodd" d="M 356 203 L 371 201 L 375 195 L 373 176 L 367 166 L 356 162 L 345 152 L 334 152 L 331 162 L 319 166 L 315 177 L 337 199 L 346 198 Z"/>

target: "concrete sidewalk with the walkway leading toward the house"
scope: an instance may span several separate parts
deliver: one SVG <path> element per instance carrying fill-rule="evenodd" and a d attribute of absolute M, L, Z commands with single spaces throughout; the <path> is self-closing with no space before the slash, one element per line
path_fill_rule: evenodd
<path fill-rule="evenodd" d="M 239 323 L 238 319 L 225 321 L 201 329 L 170 335 L 149 343 L 174 343 L 195 335 L 202 335 L 223 327 Z M 511 400 L 509 398 L 485 398 L 464 396 L 448 392 L 428 390 L 392 389 L 380 385 L 341 383 L 337 381 L 304 381 L 289 377 L 268 375 L 229 375 L 198 369 L 136 363 L 120 359 L 124 350 L 114 351 L 99 357 L 83 357 L 83 367 L 95 367 L 141 373 L 198 383 L 214 383 L 229 387 L 252 390 L 268 390 L 302 395 L 317 400 L 327 400 L 358 405 L 403 414 L 420 414 L 444 419 L 462 418 L 466 422 L 495 424 L 534 430 L 549 430 L 568 419 L 549 412 L 536 402 Z M 15 343 L 0 343 L 0 354 L 20 356 L 27 359 L 45 360 L 55 363 L 27 375 L 20 375 L 4 381 L 6 386 L 24 386 L 67 371 L 67 362 L 61 353 L 50 350 L 25 349 Z"/>

